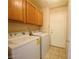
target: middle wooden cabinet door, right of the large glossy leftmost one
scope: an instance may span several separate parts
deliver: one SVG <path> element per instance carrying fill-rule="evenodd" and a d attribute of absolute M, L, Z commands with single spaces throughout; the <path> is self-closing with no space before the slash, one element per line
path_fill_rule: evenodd
<path fill-rule="evenodd" d="M 27 2 L 27 23 L 35 24 L 35 7 Z"/>

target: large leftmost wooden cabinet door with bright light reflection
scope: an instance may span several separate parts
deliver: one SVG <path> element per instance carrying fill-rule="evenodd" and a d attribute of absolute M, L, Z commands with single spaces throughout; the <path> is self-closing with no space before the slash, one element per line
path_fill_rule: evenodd
<path fill-rule="evenodd" d="M 9 19 L 24 22 L 23 8 L 22 8 L 23 0 L 8 0 L 8 1 L 9 1 L 8 3 Z"/>

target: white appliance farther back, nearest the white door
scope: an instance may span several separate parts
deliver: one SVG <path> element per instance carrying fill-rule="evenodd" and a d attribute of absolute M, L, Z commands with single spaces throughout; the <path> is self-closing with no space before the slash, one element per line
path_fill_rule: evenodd
<path fill-rule="evenodd" d="M 40 37 L 40 56 L 41 59 L 45 59 L 46 53 L 49 48 L 49 34 L 48 33 L 42 33 L 42 32 L 32 32 L 34 36 Z"/>

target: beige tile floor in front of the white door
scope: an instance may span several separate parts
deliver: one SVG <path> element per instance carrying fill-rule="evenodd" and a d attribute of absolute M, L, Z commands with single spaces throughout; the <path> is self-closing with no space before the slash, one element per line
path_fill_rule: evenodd
<path fill-rule="evenodd" d="M 66 49 L 50 46 L 45 59 L 67 59 Z"/>

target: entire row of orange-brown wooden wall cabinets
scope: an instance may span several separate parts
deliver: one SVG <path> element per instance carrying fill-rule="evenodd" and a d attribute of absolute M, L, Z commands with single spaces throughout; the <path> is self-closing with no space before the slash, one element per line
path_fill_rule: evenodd
<path fill-rule="evenodd" d="M 8 19 L 38 26 L 43 20 L 41 12 L 28 0 L 8 0 Z"/>

